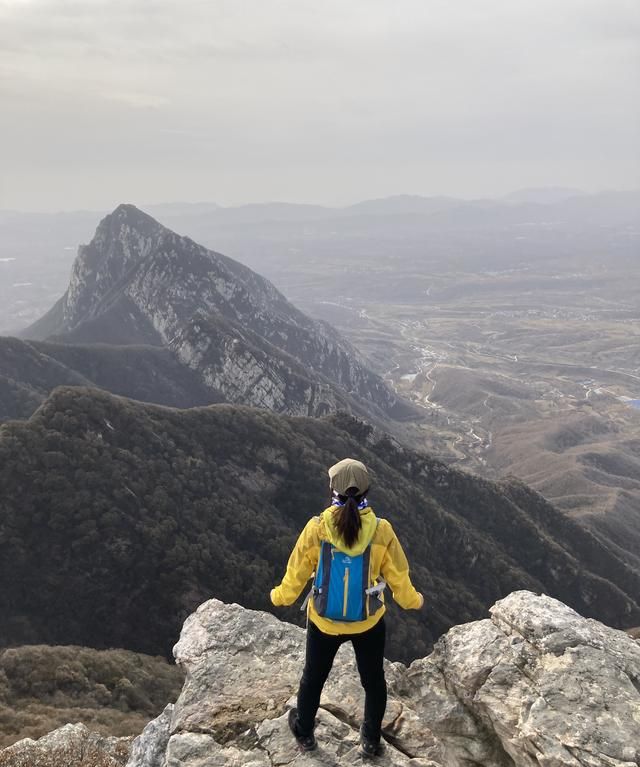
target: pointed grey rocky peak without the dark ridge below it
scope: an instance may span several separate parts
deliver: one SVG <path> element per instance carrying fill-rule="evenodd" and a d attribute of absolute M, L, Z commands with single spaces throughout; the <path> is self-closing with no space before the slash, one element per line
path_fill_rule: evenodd
<path fill-rule="evenodd" d="M 398 408 L 330 325 L 132 205 L 120 205 L 80 247 L 67 292 L 24 335 L 164 346 L 216 399 L 277 412 L 318 415 L 357 402 L 379 414 Z"/>

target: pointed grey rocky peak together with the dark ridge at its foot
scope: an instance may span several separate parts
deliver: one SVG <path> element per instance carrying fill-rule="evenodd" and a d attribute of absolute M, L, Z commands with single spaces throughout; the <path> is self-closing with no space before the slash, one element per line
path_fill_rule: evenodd
<path fill-rule="evenodd" d="M 132 205 L 102 220 L 64 296 L 22 336 L 57 343 L 0 341 L 5 417 L 28 415 L 65 383 L 183 407 L 226 401 L 374 419 L 413 412 L 331 325 Z M 127 350 L 133 345 L 143 348 Z"/>

